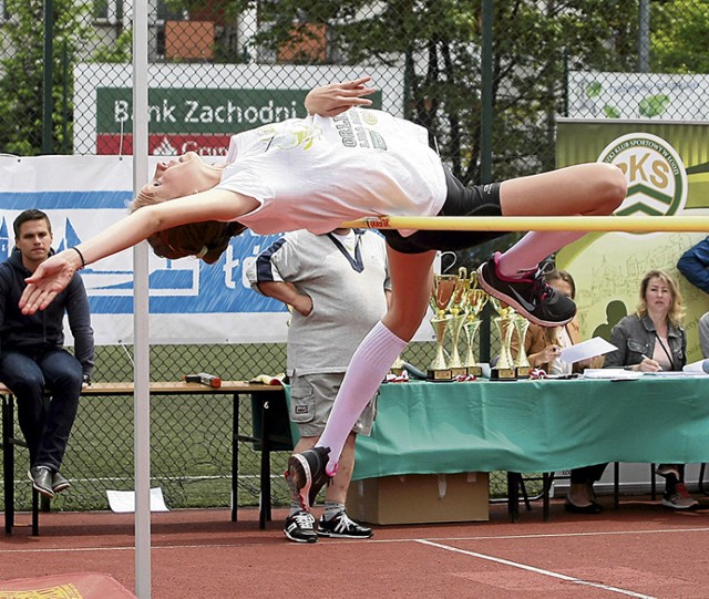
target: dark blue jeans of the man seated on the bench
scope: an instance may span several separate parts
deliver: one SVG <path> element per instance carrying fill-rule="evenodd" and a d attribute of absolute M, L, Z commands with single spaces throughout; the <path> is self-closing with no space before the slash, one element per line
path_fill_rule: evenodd
<path fill-rule="evenodd" d="M 30 450 L 31 466 L 56 472 L 76 417 L 83 372 L 63 349 L 0 354 L 0 380 L 18 403 L 18 421 Z M 44 390 L 51 392 L 44 396 Z"/>

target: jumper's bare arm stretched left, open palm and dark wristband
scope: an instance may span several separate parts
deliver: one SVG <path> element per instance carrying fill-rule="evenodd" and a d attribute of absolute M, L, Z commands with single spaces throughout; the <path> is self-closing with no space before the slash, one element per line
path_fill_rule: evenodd
<path fill-rule="evenodd" d="M 208 189 L 199 194 L 163 202 L 135 210 L 111 225 L 100 235 L 44 260 L 27 280 L 20 298 L 23 314 L 33 314 L 47 308 L 85 265 L 113 256 L 161 230 L 202 223 L 204 220 L 233 220 L 254 210 L 258 203 L 226 189 Z M 85 260 L 85 264 L 84 264 Z"/>

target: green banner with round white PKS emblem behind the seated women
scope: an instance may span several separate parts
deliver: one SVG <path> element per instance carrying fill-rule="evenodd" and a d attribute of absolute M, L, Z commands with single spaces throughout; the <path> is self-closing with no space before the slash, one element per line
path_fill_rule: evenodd
<path fill-rule="evenodd" d="M 557 165 L 586 162 L 615 164 L 626 175 L 628 194 L 616 210 L 619 216 L 709 214 L 709 123 L 559 120 Z M 589 234 L 559 251 L 559 267 L 576 282 L 584 338 L 608 338 L 613 326 L 636 310 L 645 273 L 658 268 L 680 283 L 688 360 L 699 360 L 697 321 L 709 310 L 709 297 L 689 283 L 676 265 L 705 236 Z"/>

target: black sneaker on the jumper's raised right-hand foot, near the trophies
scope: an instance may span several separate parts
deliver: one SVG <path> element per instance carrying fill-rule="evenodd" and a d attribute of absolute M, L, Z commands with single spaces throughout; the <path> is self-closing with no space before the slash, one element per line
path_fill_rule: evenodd
<path fill-rule="evenodd" d="M 563 327 L 576 314 L 576 304 L 544 280 L 541 269 L 510 279 L 500 275 L 500 252 L 477 269 L 477 281 L 492 297 L 512 306 L 540 327 Z"/>

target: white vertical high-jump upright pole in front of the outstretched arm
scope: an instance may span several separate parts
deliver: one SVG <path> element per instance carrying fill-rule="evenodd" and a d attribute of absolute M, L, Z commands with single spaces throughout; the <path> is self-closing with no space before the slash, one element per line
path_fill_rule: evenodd
<path fill-rule="evenodd" d="M 133 0 L 133 190 L 147 182 L 147 0 Z M 151 413 L 147 244 L 133 249 L 135 595 L 151 597 Z"/>

